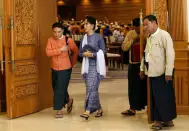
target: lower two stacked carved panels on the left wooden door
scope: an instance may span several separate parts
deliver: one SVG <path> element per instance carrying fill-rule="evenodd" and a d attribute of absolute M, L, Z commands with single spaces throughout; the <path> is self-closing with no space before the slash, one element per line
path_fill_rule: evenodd
<path fill-rule="evenodd" d="M 15 98 L 38 93 L 39 71 L 35 60 L 17 61 L 15 65 L 14 95 Z"/>

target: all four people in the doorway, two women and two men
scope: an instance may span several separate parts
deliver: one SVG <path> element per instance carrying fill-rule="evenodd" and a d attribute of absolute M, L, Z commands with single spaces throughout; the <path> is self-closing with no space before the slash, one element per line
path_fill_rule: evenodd
<path fill-rule="evenodd" d="M 151 89 L 151 120 L 153 129 L 160 130 L 165 126 L 174 126 L 176 118 L 175 94 L 173 88 L 174 48 L 168 32 L 158 27 L 155 16 L 143 19 L 144 31 L 147 32 L 144 57 L 140 59 L 140 19 L 133 19 L 133 30 L 129 31 L 122 43 L 122 49 L 129 51 L 128 93 L 130 108 L 121 112 L 124 116 L 134 116 L 136 111 L 145 109 L 147 105 L 147 76 Z M 46 53 L 51 58 L 52 86 L 54 91 L 54 110 L 56 118 L 62 118 L 62 109 L 72 111 L 73 99 L 68 94 L 68 84 L 72 68 L 78 55 L 83 57 L 81 74 L 86 85 L 84 112 L 80 115 L 88 120 L 90 114 L 103 116 L 99 98 L 100 81 L 106 76 L 104 38 L 95 33 L 96 19 L 87 16 L 84 28 L 86 34 L 81 39 L 80 47 L 71 38 L 63 35 L 61 23 L 54 23 L 54 36 L 47 41 Z M 70 58 L 70 55 L 72 56 Z"/>

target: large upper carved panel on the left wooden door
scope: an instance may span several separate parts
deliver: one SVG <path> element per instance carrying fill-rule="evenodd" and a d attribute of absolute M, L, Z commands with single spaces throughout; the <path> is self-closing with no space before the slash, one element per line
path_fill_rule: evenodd
<path fill-rule="evenodd" d="M 15 0 L 16 44 L 36 44 L 36 11 L 36 0 Z"/>

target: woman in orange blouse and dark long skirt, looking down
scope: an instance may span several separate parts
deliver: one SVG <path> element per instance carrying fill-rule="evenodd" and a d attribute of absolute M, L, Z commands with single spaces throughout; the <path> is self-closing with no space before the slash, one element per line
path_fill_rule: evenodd
<path fill-rule="evenodd" d="M 72 67 L 77 62 L 78 48 L 71 38 L 63 36 L 63 26 L 61 23 L 52 25 L 53 37 L 47 41 L 46 54 L 50 57 L 50 67 L 52 69 L 52 86 L 54 91 L 54 110 L 57 110 L 56 118 L 62 118 L 62 108 L 67 104 L 67 112 L 72 110 L 73 99 L 68 94 L 68 84 L 72 72 Z M 68 44 L 66 44 L 68 43 Z M 72 53 L 72 60 L 69 53 Z"/>

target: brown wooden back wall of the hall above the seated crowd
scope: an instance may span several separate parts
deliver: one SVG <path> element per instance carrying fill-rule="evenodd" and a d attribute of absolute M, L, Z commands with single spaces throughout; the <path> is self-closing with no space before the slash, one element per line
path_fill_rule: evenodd
<path fill-rule="evenodd" d="M 102 21 L 107 17 L 109 21 L 128 24 L 139 17 L 140 9 L 145 9 L 145 0 L 81 0 L 77 5 L 76 19 L 91 15 Z"/>

